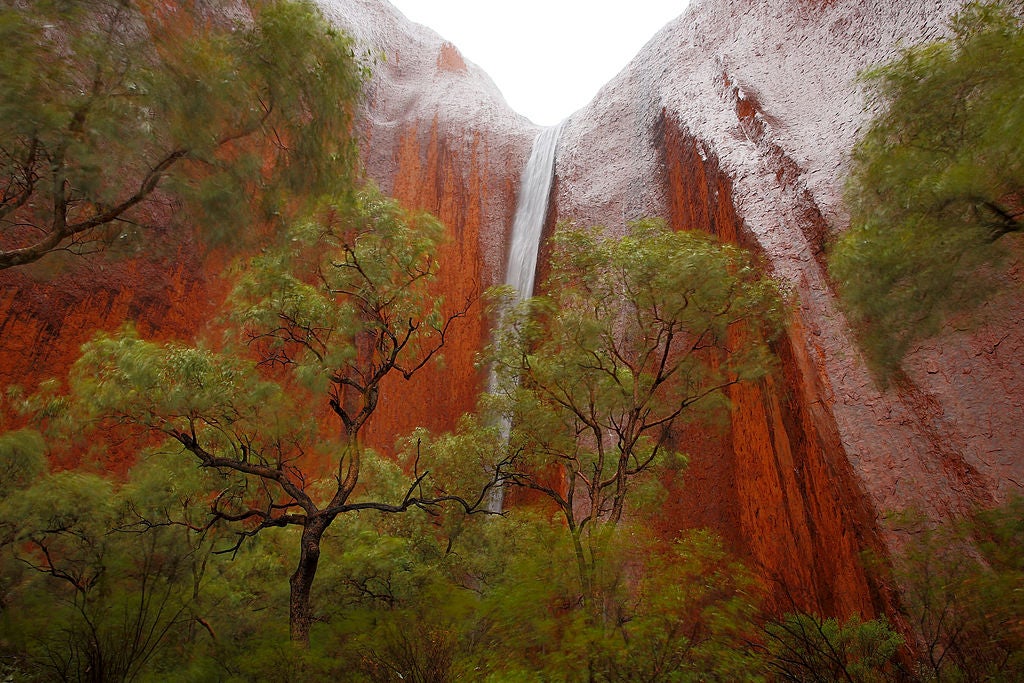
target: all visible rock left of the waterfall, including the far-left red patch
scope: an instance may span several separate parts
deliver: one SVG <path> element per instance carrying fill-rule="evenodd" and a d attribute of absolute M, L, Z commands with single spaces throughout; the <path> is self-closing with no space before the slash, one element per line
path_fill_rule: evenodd
<path fill-rule="evenodd" d="M 474 366 L 487 336 L 478 299 L 502 281 L 519 172 L 538 129 L 454 45 L 386 2 L 336 0 L 323 8 L 371 66 L 359 120 L 367 175 L 444 222 L 438 295 L 452 309 L 477 301 L 458 322 L 442 367 L 384 387 L 368 438 L 386 451 L 415 426 L 452 427 L 483 388 Z M 151 236 L 145 248 L 0 271 L 0 385 L 31 390 L 67 375 L 83 342 L 126 321 L 150 338 L 202 333 L 227 292 L 220 273 L 233 255 L 200 253 L 180 229 Z"/>

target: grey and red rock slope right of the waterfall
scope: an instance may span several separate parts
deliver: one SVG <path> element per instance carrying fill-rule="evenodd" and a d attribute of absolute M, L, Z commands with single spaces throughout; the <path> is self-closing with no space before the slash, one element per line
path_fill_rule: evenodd
<path fill-rule="evenodd" d="M 868 116 L 856 75 L 941 35 L 958 6 L 695 0 L 563 133 L 554 219 L 622 230 L 665 216 L 760 253 L 797 297 L 781 371 L 734 392 L 725 434 L 691 435 L 667 513 L 719 528 L 798 606 L 885 608 L 860 554 L 897 542 L 887 511 L 948 518 L 1024 482 L 1015 297 L 988 326 L 914 351 L 883 390 L 823 267 Z"/>

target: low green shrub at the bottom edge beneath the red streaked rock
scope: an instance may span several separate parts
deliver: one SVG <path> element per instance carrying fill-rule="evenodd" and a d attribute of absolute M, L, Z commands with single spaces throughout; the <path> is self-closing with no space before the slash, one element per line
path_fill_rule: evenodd
<path fill-rule="evenodd" d="M 885 617 L 845 624 L 816 614 L 792 613 L 764 628 L 769 667 L 786 681 L 895 680 L 890 664 L 903 637 Z"/>

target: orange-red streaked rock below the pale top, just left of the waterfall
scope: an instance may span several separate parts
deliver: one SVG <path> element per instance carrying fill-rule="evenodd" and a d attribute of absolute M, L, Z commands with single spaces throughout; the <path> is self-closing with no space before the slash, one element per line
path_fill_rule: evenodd
<path fill-rule="evenodd" d="M 480 133 L 452 140 L 435 118 L 403 125 L 394 140 L 390 150 L 394 175 L 379 181 L 389 185 L 390 194 L 404 206 L 429 211 L 447 226 L 438 295 L 452 310 L 467 301 L 475 303 L 456 323 L 442 365 L 428 366 L 410 382 L 394 379 L 382 388 L 368 440 L 383 449 L 417 426 L 452 428 L 459 416 L 474 410 L 477 395 L 485 389 L 486 374 L 475 368 L 476 354 L 489 341 L 480 297 L 500 282 L 500 274 L 484 264 L 504 254 L 484 252 L 504 245 L 503 230 L 512 223 L 518 185 L 517 176 L 494 173 L 490 145 Z M 380 145 L 371 155 L 379 158 L 386 153 L 387 147 Z M 369 165 L 374 166 L 373 159 Z M 497 217 L 486 215 L 492 204 L 503 208 Z"/>

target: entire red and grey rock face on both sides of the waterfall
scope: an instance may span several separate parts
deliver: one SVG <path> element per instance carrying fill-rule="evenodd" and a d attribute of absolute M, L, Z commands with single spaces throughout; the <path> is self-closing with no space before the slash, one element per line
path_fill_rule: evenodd
<path fill-rule="evenodd" d="M 360 127 L 368 174 L 449 226 L 445 299 L 478 296 L 502 281 L 537 127 L 456 46 L 384 0 L 322 2 L 377 59 Z M 866 120 L 854 77 L 900 41 L 940 35 L 958 4 L 693 0 L 562 134 L 549 230 L 567 219 L 621 232 L 664 216 L 755 250 L 796 295 L 779 372 L 733 392 L 724 431 L 684 435 L 691 465 L 670 482 L 658 522 L 668 537 L 718 529 L 782 608 L 887 609 L 884 578 L 860 561 L 897 543 L 886 511 L 915 506 L 942 519 L 1024 483 L 1015 297 L 992 305 L 987 327 L 918 349 L 882 390 L 822 265 L 827 238 L 847 224 L 844 159 Z M 180 234 L 157 242 L 163 251 L 147 257 L 0 272 L 0 384 L 62 376 L 95 330 L 126 319 L 150 337 L 202 332 L 226 292 L 218 273 L 228 255 L 198 254 Z M 414 426 L 450 427 L 471 410 L 486 334 L 477 307 L 443 370 L 385 387 L 371 440 L 387 449 Z"/>

